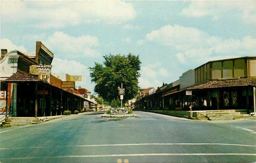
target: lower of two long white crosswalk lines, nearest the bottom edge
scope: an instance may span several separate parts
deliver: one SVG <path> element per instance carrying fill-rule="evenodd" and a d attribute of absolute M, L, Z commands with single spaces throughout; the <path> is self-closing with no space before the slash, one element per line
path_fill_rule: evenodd
<path fill-rule="evenodd" d="M 256 156 L 255 153 L 142 153 L 142 154 L 103 154 L 103 155 L 68 155 L 52 157 L 14 157 L 2 159 L 50 159 L 50 158 L 83 158 L 83 157 L 127 157 L 127 156 Z"/>

